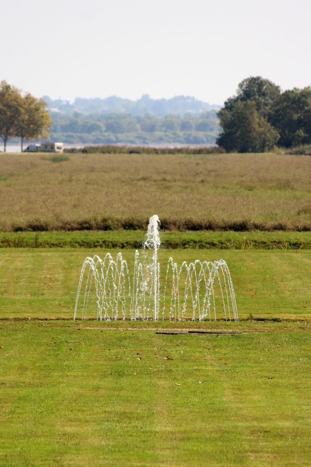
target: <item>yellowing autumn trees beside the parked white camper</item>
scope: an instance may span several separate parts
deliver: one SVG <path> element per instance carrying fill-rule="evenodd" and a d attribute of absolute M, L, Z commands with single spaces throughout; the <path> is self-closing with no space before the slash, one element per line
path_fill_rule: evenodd
<path fill-rule="evenodd" d="M 0 137 L 4 151 L 7 150 L 7 140 L 12 137 L 20 138 L 23 151 L 25 140 L 47 137 L 51 124 L 43 99 L 37 99 L 29 92 L 22 93 L 6 81 L 0 82 Z"/>

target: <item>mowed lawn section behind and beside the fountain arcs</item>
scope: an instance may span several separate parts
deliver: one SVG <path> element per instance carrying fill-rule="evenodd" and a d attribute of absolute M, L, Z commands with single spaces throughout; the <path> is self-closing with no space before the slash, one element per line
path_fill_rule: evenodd
<path fill-rule="evenodd" d="M 1 249 L 0 318 L 72 318 L 85 257 L 103 257 L 106 252 L 84 248 Z M 114 257 L 117 252 L 111 250 Z M 134 250 L 122 250 L 122 255 L 132 269 Z M 197 258 L 223 258 L 231 271 L 240 319 L 250 314 L 255 318 L 310 318 L 310 250 L 161 250 L 163 279 L 170 256 L 178 264 Z M 96 318 L 95 306 L 88 308 L 87 317 Z M 224 318 L 220 308 L 217 317 Z"/>

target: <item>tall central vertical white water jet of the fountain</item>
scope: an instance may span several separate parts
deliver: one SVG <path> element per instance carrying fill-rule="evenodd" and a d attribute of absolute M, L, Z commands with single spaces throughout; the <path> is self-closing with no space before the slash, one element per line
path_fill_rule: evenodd
<path fill-rule="evenodd" d="M 153 296 L 154 296 L 154 319 L 159 318 L 159 278 L 160 278 L 160 264 L 158 263 L 158 249 L 160 248 L 160 220 L 155 214 L 149 218 L 149 224 L 146 233 L 146 240 L 144 241 L 144 248 L 152 248 L 152 268 L 151 277 L 153 281 Z"/>

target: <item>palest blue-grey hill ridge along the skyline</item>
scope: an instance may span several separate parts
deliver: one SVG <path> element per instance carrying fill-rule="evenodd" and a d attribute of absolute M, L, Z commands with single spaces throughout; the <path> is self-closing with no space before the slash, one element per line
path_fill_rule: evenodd
<path fill-rule="evenodd" d="M 151 99 L 148 94 L 145 94 L 138 100 L 123 99 L 117 96 L 110 96 L 106 99 L 77 97 L 72 104 L 68 100 L 50 99 L 49 96 L 43 96 L 43 99 L 48 103 L 50 111 L 65 114 L 75 112 L 84 114 L 126 113 L 137 116 L 148 113 L 155 117 L 164 117 L 171 114 L 199 114 L 220 108 L 219 105 L 208 104 L 191 96 Z"/>

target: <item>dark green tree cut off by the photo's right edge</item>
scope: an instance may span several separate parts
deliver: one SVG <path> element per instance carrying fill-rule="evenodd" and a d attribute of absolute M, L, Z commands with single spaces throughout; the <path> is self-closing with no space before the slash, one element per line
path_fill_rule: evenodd
<path fill-rule="evenodd" d="M 311 87 L 284 91 L 276 101 L 271 122 L 281 135 L 281 146 L 310 144 Z"/>

